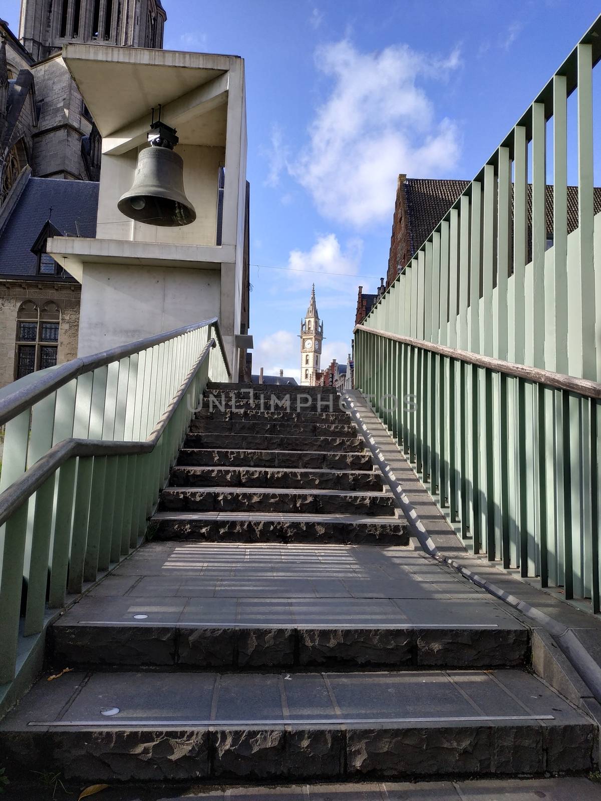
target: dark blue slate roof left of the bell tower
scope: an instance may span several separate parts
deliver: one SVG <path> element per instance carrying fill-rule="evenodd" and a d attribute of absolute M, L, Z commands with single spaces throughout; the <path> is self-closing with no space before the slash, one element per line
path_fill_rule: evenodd
<path fill-rule="evenodd" d="M 0 231 L 0 275 L 37 276 L 31 247 L 49 216 L 63 235 L 94 237 L 98 187 L 92 181 L 30 178 Z"/>

